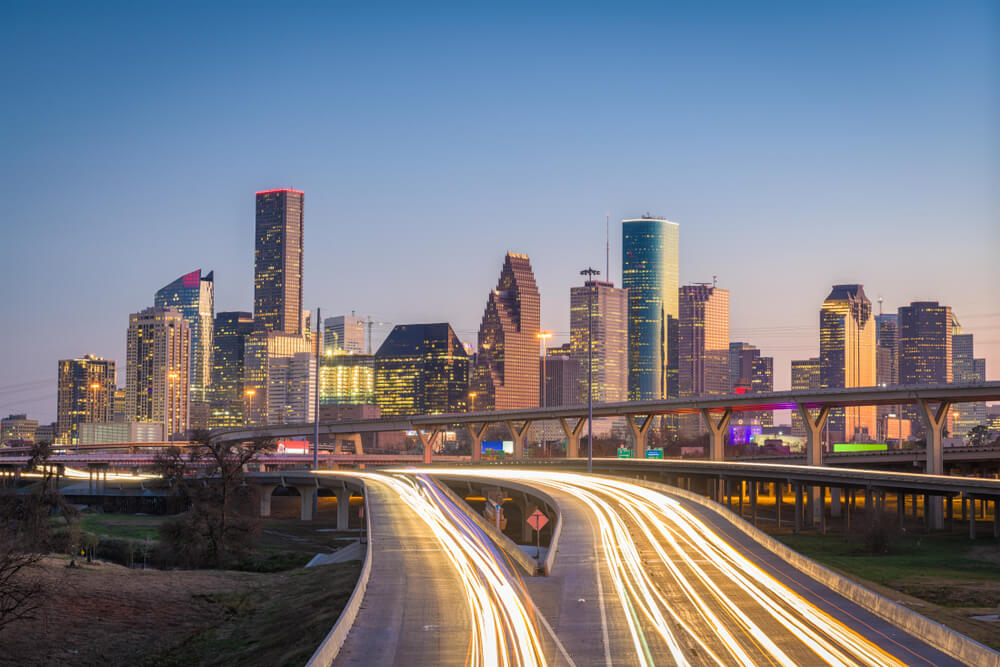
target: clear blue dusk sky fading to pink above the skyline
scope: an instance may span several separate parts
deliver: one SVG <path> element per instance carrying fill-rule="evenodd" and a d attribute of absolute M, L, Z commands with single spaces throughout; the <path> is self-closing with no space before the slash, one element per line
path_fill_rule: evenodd
<path fill-rule="evenodd" d="M 995 2 L 204 5 L 0 6 L 3 415 L 53 420 L 59 359 L 124 383 L 129 313 L 184 273 L 252 310 L 274 187 L 324 316 L 475 342 L 510 250 L 558 343 L 605 216 L 620 284 L 650 213 L 776 389 L 836 283 L 952 306 L 1000 379 Z"/>

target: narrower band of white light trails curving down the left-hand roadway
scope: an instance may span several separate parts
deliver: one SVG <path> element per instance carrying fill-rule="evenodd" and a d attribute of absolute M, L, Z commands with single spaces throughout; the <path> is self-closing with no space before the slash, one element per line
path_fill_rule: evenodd
<path fill-rule="evenodd" d="M 322 473 L 319 473 L 322 474 Z M 344 476 L 344 472 L 336 473 Z M 517 575 L 492 540 L 424 475 L 350 473 L 390 487 L 441 544 L 455 568 L 472 618 L 468 664 L 484 667 L 545 664 L 530 603 Z"/>

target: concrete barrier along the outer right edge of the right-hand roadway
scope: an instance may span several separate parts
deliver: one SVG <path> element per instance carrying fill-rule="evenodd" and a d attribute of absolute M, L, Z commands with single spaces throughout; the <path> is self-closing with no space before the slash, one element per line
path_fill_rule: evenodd
<path fill-rule="evenodd" d="M 607 475 L 602 475 L 602 477 L 607 477 Z M 620 480 L 620 478 L 613 479 Z M 714 500 L 709 500 L 696 493 L 678 489 L 667 484 L 641 479 L 630 481 L 654 491 L 660 491 L 665 495 L 675 495 L 685 498 L 712 510 L 800 572 L 839 593 L 859 607 L 867 609 L 869 612 L 905 630 L 909 634 L 923 639 L 934 648 L 952 658 L 968 665 L 980 665 L 983 667 L 987 665 L 1000 666 L 1000 653 L 980 644 L 974 639 L 955 632 L 951 628 L 941 625 L 937 621 L 932 621 L 912 609 L 907 609 L 888 598 L 882 597 L 878 593 L 837 574 L 833 570 L 823 567 L 811 558 L 806 558 L 802 554 L 789 549 L 764 531 L 737 516 L 724 505 L 720 505 Z"/>

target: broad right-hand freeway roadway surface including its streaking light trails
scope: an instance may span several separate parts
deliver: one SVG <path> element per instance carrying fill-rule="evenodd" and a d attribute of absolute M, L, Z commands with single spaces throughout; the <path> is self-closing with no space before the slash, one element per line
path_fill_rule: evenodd
<path fill-rule="evenodd" d="M 597 596 L 603 588 L 604 606 L 618 613 L 609 614 L 612 620 L 604 626 L 610 630 L 609 640 L 602 641 L 601 648 L 607 647 L 609 656 L 595 656 L 593 646 L 586 646 L 586 626 L 591 628 L 591 644 L 601 626 L 592 620 L 576 628 L 564 626 L 563 618 L 572 616 L 565 591 L 552 584 L 529 584 L 578 664 L 603 664 L 607 658 L 613 664 L 957 664 L 793 571 L 690 501 L 611 478 L 537 471 L 448 472 L 537 486 L 556 496 L 564 530 L 570 524 L 567 519 L 578 522 L 584 517 L 599 536 L 603 576 L 597 581 L 602 583 L 581 597 Z M 561 541 L 553 574 L 559 576 L 564 564 L 580 570 L 593 545 L 585 535 Z M 553 604 L 553 599 L 558 602 Z M 622 640 L 615 622 L 620 617 L 628 641 Z M 578 647 L 583 650 L 575 650 Z"/>

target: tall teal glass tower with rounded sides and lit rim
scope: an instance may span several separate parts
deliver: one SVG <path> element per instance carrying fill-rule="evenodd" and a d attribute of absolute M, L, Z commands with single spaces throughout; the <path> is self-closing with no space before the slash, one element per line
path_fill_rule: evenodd
<path fill-rule="evenodd" d="M 622 220 L 622 287 L 628 290 L 628 395 L 678 395 L 676 351 L 678 245 L 676 222 Z"/>

